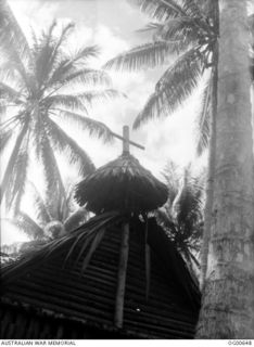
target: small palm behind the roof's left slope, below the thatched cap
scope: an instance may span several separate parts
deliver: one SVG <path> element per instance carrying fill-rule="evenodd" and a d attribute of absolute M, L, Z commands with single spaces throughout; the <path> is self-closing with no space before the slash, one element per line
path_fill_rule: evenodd
<path fill-rule="evenodd" d="M 30 242 L 21 246 L 22 252 L 38 248 L 50 240 L 68 234 L 89 219 L 89 213 L 74 203 L 74 188 L 71 184 L 65 188 L 64 196 L 53 203 L 45 200 L 31 182 L 29 188 L 35 216 L 20 210 L 14 219 L 9 220 L 30 239 Z"/>

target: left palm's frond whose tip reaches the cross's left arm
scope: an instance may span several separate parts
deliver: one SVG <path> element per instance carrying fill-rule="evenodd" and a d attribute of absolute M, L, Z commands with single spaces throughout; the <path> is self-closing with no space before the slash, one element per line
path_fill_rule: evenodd
<path fill-rule="evenodd" d="M 71 121 L 80 129 L 87 130 L 90 136 L 98 137 L 103 141 L 113 140 L 112 131 L 101 121 L 65 110 L 59 110 L 58 116 Z"/>

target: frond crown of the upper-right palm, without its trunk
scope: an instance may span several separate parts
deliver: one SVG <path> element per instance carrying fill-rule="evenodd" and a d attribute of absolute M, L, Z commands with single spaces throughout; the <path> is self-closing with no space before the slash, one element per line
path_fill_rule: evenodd
<path fill-rule="evenodd" d="M 110 60 L 105 68 L 139 70 L 142 67 L 168 65 L 134 124 L 138 128 L 153 117 L 170 115 L 191 95 L 204 70 L 214 75 L 217 44 L 215 3 L 204 9 L 205 1 L 195 0 L 135 0 L 140 10 L 155 22 L 140 31 L 153 34 L 151 42 L 136 47 Z M 169 59 L 176 56 L 174 63 Z M 199 151 L 208 141 L 208 101 L 212 82 L 204 90 L 203 110 L 200 114 Z"/>

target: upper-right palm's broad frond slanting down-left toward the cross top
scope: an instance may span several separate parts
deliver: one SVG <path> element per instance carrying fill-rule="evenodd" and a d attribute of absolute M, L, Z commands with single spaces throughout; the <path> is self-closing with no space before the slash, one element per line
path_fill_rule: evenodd
<path fill-rule="evenodd" d="M 181 105 L 196 87 L 203 60 L 198 48 L 183 53 L 161 77 L 155 92 L 137 116 L 134 128 L 162 115 L 168 116 Z"/>

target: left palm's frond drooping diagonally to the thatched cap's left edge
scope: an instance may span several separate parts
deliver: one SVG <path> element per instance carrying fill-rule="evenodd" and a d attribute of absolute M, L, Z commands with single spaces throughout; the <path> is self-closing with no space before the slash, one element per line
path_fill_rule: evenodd
<path fill-rule="evenodd" d="M 77 163 L 79 166 L 79 174 L 81 176 L 89 175 L 94 171 L 94 165 L 87 153 L 61 129 L 53 120 L 49 120 L 48 128 L 51 141 L 59 151 L 65 152 L 69 164 Z"/>

